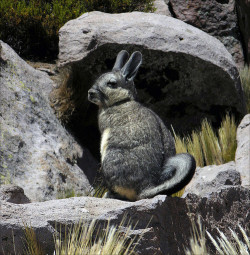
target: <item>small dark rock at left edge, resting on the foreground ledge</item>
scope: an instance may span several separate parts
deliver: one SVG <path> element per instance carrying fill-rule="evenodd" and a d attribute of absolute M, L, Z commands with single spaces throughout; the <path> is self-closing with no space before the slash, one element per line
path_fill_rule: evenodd
<path fill-rule="evenodd" d="M 24 194 L 24 190 L 16 185 L 7 184 L 0 187 L 0 201 L 14 204 L 27 204 L 30 199 Z"/>

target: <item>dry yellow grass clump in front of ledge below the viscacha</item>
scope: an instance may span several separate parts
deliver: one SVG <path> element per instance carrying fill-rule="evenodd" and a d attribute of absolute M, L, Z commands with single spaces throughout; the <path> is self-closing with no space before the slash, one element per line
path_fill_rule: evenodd
<path fill-rule="evenodd" d="M 68 233 L 62 239 L 55 236 L 55 255 L 129 255 L 135 254 L 136 237 L 129 238 L 132 230 L 131 224 L 127 224 L 124 232 L 123 218 L 120 225 L 112 226 L 108 222 L 106 228 L 101 230 L 97 228 L 96 221 L 90 224 L 79 223 L 70 228 Z M 61 231 L 60 231 L 61 232 Z M 132 247 L 133 246 L 133 247 Z"/>

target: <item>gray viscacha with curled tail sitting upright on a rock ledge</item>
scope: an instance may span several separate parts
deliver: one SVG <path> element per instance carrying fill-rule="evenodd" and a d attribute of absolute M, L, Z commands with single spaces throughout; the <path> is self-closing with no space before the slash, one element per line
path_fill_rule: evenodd
<path fill-rule="evenodd" d="M 99 106 L 107 196 L 134 201 L 169 195 L 191 180 L 195 161 L 189 154 L 176 155 L 173 136 L 162 120 L 135 101 L 133 79 L 142 55 L 134 52 L 124 63 L 126 58 L 126 52 L 120 52 L 113 71 L 89 90 L 89 100 Z"/>

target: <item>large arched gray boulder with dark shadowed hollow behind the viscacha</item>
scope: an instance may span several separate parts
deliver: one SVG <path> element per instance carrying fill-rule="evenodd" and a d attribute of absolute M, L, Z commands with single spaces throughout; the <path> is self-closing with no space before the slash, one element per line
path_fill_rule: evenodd
<path fill-rule="evenodd" d="M 61 102 L 58 109 L 69 111 L 72 105 L 70 126 L 89 146 L 99 140 L 99 133 L 97 108 L 89 104 L 87 91 L 112 68 L 122 49 L 142 52 L 135 80 L 138 100 L 176 131 L 191 131 L 204 118 L 219 124 L 229 109 L 238 117 L 245 112 L 230 53 L 216 38 L 180 20 L 152 13 L 90 12 L 67 22 L 59 38 L 58 65 L 71 68 L 71 97 L 69 102 L 68 94 L 59 90 L 54 101 Z"/>

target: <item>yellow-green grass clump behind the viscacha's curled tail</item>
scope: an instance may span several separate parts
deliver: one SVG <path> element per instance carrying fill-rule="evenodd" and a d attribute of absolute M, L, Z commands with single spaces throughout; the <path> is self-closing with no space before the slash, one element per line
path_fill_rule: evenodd
<path fill-rule="evenodd" d="M 235 118 L 228 114 L 222 120 L 218 130 L 205 119 L 201 130 L 181 138 L 174 133 L 177 153 L 190 153 L 194 156 L 197 166 L 220 165 L 235 158 L 237 125 Z"/>

